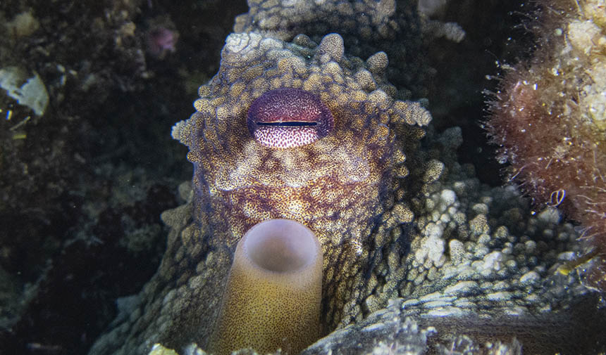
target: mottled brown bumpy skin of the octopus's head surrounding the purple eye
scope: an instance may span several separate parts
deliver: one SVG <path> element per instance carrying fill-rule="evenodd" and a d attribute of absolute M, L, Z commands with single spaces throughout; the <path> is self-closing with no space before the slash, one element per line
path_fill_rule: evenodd
<path fill-rule="evenodd" d="M 329 330 L 340 321 L 345 299 L 359 292 L 352 276 L 367 267 L 369 235 L 393 205 L 385 196 L 395 189 L 395 174 L 407 174 L 397 131 L 416 123 L 411 112 L 428 115 L 418 104 L 370 90 L 376 83 L 356 81 L 357 72 L 370 72 L 342 56 L 338 35 L 327 36 L 309 63 L 286 51 L 268 60 L 277 50 L 261 54 L 259 65 L 242 67 L 230 65 L 235 54 L 226 46 L 218 75 L 200 88 L 197 112 L 173 136 L 190 146 L 194 218 L 208 224 L 212 245 L 233 250 L 247 229 L 266 219 L 294 219 L 318 235 L 326 255 L 323 323 Z M 319 96 L 335 117 L 335 129 L 297 148 L 254 141 L 247 108 L 262 93 L 283 87 Z"/>

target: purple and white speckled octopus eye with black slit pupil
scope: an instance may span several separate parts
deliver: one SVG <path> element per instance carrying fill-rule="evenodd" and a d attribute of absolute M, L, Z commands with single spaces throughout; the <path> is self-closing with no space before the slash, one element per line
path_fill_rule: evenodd
<path fill-rule="evenodd" d="M 335 120 L 314 93 L 289 88 L 256 98 L 248 109 L 247 126 L 263 146 L 295 148 L 327 136 Z"/>

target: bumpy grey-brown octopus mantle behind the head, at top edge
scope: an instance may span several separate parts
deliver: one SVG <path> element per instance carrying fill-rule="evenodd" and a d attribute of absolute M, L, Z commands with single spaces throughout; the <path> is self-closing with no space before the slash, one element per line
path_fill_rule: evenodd
<path fill-rule="evenodd" d="M 401 97 L 426 97 L 431 69 L 426 66 L 416 1 L 396 0 L 248 0 L 249 12 L 237 16 L 234 32 L 259 32 L 291 41 L 303 33 L 314 41 L 340 34 L 345 51 L 367 58 L 385 51 L 388 78 Z M 403 90 L 403 88 L 407 90 Z"/>

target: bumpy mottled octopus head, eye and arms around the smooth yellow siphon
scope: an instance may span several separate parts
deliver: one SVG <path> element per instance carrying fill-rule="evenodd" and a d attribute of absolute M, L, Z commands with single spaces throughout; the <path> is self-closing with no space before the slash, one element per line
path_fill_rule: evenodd
<path fill-rule="evenodd" d="M 173 127 L 194 176 L 162 214 L 159 270 L 89 354 L 200 353 L 235 245 L 266 219 L 299 221 L 323 250 L 323 339 L 303 354 L 577 349 L 571 309 L 591 298 L 579 273 L 556 272 L 581 252 L 573 226 L 531 214 L 513 186 L 481 185 L 457 163 L 460 130 L 423 143 L 431 115 L 395 99 L 388 55 L 345 48 L 339 34 L 230 34 Z"/>

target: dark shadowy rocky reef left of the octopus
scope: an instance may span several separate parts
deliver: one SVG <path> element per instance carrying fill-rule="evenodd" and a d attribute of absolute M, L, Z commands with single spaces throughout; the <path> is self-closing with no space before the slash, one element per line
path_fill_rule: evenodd
<path fill-rule="evenodd" d="M 229 25 L 244 10 L 227 11 Z M 177 98 L 216 71 L 205 58 L 215 63 L 228 34 L 217 16 L 184 30 L 180 12 L 161 1 L 1 1 L 3 354 L 84 354 L 115 318 L 116 297 L 156 271 L 159 215 L 191 176 L 166 132 L 172 115 L 190 114 Z M 159 27 L 185 33 L 178 52 L 154 56 L 147 38 Z"/>

